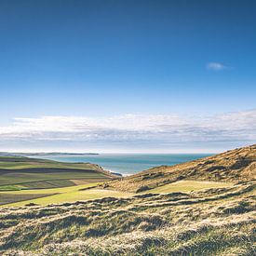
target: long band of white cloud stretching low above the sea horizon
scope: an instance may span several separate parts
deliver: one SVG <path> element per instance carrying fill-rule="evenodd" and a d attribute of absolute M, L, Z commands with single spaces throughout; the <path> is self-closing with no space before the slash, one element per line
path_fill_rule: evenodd
<path fill-rule="evenodd" d="M 14 118 L 0 127 L 3 141 L 196 143 L 256 141 L 256 110 L 212 116 L 117 115 Z"/>

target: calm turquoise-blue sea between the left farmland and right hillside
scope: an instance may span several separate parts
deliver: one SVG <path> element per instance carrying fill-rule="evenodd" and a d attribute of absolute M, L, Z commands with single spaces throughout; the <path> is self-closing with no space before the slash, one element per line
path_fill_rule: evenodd
<path fill-rule="evenodd" d="M 183 162 L 195 160 L 209 155 L 204 154 L 136 154 L 136 155 L 40 155 L 45 158 L 62 162 L 89 162 L 98 164 L 102 168 L 129 175 L 147 168 L 161 165 L 173 166 Z"/>

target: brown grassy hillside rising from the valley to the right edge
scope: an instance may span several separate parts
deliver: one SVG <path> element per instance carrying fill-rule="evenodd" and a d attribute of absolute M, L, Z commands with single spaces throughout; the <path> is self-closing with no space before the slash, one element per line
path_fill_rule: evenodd
<path fill-rule="evenodd" d="M 181 180 L 248 182 L 256 179 L 256 144 L 176 166 L 144 170 L 113 182 L 104 188 L 141 192 Z"/>

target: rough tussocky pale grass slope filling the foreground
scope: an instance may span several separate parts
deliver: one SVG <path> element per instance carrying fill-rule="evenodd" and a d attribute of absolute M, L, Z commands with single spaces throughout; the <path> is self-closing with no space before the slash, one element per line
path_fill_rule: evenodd
<path fill-rule="evenodd" d="M 253 182 L 0 209 L 1 255 L 255 255 Z"/>

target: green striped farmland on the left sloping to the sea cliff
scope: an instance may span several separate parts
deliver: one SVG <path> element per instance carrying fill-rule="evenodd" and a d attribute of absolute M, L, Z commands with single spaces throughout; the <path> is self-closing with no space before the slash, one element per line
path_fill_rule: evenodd
<path fill-rule="evenodd" d="M 89 163 L 61 163 L 28 157 L 0 157 L 0 191 L 45 189 L 102 182 L 114 176 Z"/>

